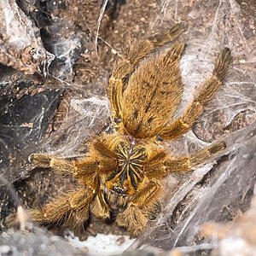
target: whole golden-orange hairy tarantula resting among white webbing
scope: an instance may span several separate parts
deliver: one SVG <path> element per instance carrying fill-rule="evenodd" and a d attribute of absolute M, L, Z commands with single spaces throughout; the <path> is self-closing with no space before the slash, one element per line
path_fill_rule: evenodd
<path fill-rule="evenodd" d="M 231 59 L 230 49 L 224 48 L 212 76 L 184 113 L 173 118 L 183 95 L 179 61 L 185 44 L 174 43 L 166 55 L 152 53 L 183 31 L 183 24 L 177 24 L 139 42 L 113 68 L 108 85 L 112 134 L 92 138 L 88 153 L 81 158 L 40 153 L 30 156 L 35 166 L 64 172 L 79 181 L 78 189 L 30 210 L 38 224 L 64 224 L 74 229 L 93 214 L 96 218 L 115 218 L 120 227 L 137 236 L 163 195 L 163 178 L 172 172 L 188 172 L 225 148 L 224 142 L 218 142 L 195 154 L 174 158 L 161 143 L 189 131 L 223 84 Z M 117 213 L 114 216 L 112 212 Z"/>

